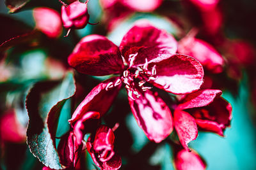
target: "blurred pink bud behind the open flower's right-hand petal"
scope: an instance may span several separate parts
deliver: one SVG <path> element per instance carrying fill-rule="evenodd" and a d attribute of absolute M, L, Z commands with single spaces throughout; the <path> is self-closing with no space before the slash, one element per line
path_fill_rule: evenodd
<path fill-rule="evenodd" d="M 224 59 L 214 47 L 201 39 L 192 37 L 179 41 L 179 53 L 184 53 L 198 60 L 206 69 L 213 73 L 223 71 Z"/>

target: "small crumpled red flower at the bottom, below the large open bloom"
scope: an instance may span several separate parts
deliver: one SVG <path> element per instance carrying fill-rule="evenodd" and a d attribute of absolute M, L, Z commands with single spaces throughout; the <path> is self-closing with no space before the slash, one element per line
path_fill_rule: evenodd
<path fill-rule="evenodd" d="M 119 169 L 122 165 L 121 157 L 114 152 L 115 135 L 106 125 L 100 125 L 95 138 L 88 138 L 87 150 L 93 162 L 101 169 Z"/>

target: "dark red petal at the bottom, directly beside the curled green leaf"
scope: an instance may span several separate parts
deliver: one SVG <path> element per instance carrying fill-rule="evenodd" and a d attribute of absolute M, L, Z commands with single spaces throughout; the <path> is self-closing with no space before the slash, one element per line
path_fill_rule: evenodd
<path fill-rule="evenodd" d="M 77 160 L 81 155 L 83 145 L 77 144 L 76 136 L 69 132 L 61 137 L 58 145 L 60 163 L 65 167 L 76 167 Z"/>

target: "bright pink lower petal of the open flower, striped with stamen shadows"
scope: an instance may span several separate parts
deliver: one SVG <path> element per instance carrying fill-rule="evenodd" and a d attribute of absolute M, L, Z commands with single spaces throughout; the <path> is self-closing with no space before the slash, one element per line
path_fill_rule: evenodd
<path fill-rule="evenodd" d="M 135 100 L 128 99 L 132 113 L 148 139 L 159 143 L 172 132 L 171 111 L 157 93 L 147 90 Z"/>

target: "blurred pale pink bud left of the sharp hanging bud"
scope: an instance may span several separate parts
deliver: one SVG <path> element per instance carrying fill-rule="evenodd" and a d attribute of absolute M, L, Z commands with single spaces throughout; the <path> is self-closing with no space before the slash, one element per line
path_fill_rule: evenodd
<path fill-rule="evenodd" d="M 58 38 L 62 32 L 60 14 L 51 8 L 39 7 L 33 10 L 36 29 L 44 32 L 49 38 Z"/>

